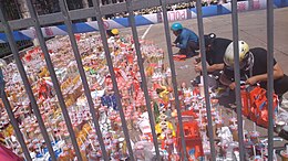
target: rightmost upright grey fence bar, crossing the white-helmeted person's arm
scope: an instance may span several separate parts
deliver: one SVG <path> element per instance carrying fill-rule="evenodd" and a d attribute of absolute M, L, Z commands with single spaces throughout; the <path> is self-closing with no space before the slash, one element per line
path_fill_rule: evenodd
<path fill-rule="evenodd" d="M 274 1 L 267 0 L 267 71 L 268 71 L 268 160 L 274 160 L 274 110 L 272 110 L 272 90 L 274 90 Z"/>

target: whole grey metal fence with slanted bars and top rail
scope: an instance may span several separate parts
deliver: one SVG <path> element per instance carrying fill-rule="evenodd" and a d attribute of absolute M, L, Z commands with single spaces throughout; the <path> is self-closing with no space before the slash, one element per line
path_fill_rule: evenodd
<path fill-rule="evenodd" d="M 51 159 L 54 161 L 56 160 L 55 154 L 53 152 L 53 148 L 51 146 L 51 140 L 49 138 L 47 128 L 44 126 L 44 122 L 42 120 L 40 110 L 39 110 L 39 106 L 37 104 L 37 100 L 34 98 L 33 92 L 30 87 L 30 83 L 25 73 L 25 69 L 23 67 L 23 64 L 19 57 L 19 50 L 17 47 L 16 41 L 12 36 L 12 30 L 14 29 L 23 29 L 23 28 L 29 28 L 29 26 L 33 26 L 35 29 L 35 33 L 38 35 L 39 42 L 40 42 L 40 46 L 44 53 L 44 60 L 49 69 L 49 73 L 51 75 L 52 78 L 52 83 L 54 85 L 54 89 L 56 93 L 56 97 L 60 104 L 60 107 L 62 109 L 62 114 L 69 130 L 69 133 L 71 136 L 71 140 L 72 140 L 72 144 L 73 144 L 73 149 L 75 150 L 75 155 L 78 158 L 79 161 L 82 160 L 81 158 L 81 152 L 80 152 L 80 148 L 78 146 L 76 139 L 75 139 L 75 135 L 73 131 L 73 127 L 68 114 L 68 109 L 66 109 L 66 105 L 64 103 L 64 98 L 63 95 L 61 93 L 61 88 L 59 85 L 59 80 L 56 78 L 55 75 L 55 71 L 53 68 L 52 65 L 52 61 L 51 57 L 49 55 L 49 51 L 48 51 L 48 46 L 45 44 L 43 34 L 41 32 L 41 23 L 43 24 L 50 24 L 50 23 L 54 23 L 54 22 L 64 22 L 66 28 L 68 28 L 68 33 L 69 33 L 69 37 L 72 44 L 72 49 L 74 52 L 74 56 L 76 60 L 76 64 L 78 64 L 78 68 L 80 72 L 80 76 L 83 83 L 83 87 L 84 87 L 84 94 L 86 96 L 88 103 L 89 103 L 89 107 L 90 107 L 90 112 L 92 115 L 93 118 L 93 124 L 94 124 L 94 128 L 95 128 L 95 132 L 97 138 L 102 138 L 102 133 L 100 130 L 100 125 L 99 125 L 99 116 L 96 115 L 95 108 L 94 108 L 94 104 L 91 97 L 91 93 L 90 93 L 90 88 L 89 88 L 89 84 L 86 80 L 86 76 L 85 76 L 85 72 L 83 69 L 83 65 L 81 62 L 81 55 L 78 49 L 78 43 L 74 37 L 74 33 L 72 30 L 72 20 L 75 19 L 86 19 L 90 18 L 91 15 L 96 17 L 97 20 L 97 24 L 100 28 L 100 34 L 103 41 L 103 46 L 104 46 L 104 51 L 105 51 L 105 56 L 106 56 L 106 62 L 109 65 L 109 71 L 112 77 L 112 83 L 113 83 L 113 89 L 114 93 L 116 95 L 116 103 L 119 105 L 119 109 L 120 109 L 120 116 L 121 116 L 121 121 L 122 121 L 122 126 L 123 126 L 123 132 L 125 136 L 125 140 L 130 140 L 130 133 L 128 133 L 128 129 L 126 126 L 126 121 L 125 121 L 125 116 L 123 112 L 123 108 L 122 108 L 122 104 L 121 104 L 121 97 L 120 97 L 120 90 L 117 87 L 117 83 L 116 83 L 116 78 L 115 78 L 115 73 L 113 69 L 113 62 L 110 55 L 110 50 L 109 50 L 109 44 L 107 44 L 107 40 L 106 40 L 106 34 L 105 34 L 105 29 L 104 29 L 104 24 L 103 24 L 103 20 L 102 17 L 104 14 L 107 13 L 116 13 L 116 12 L 127 12 L 128 13 L 128 22 L 131 24 L 131 29 L 132 29 L 132 33 L 133 33 L 133 39 L 134 39 L 134 43 L 135 43 L 135 50 L 136 50 L 136 54 L 137 54 L 137 63 L 140 66 L 140 72 L 141 72 L 141 77 L 142 77 L 142 82 L 143 82 L 143 90 L 144 90 L 144 95 L 145 95 L 145 100 L 146 100 L 146 106 L 147 106 L 147 110 L 148 110 L 148 115 L 150 115 L 150 122 L 151 122 L 151 128 L 152 128 L 152 136 L 153 136 L 153 142 L 155 146 L 155 151 L 156 151 L 156 155 L 157 155 L 157 160 L 161 160 L 161 155 L 160 155 L 160 150 L 158 150 L 158 143 L 157 143 L 157 136 L 155 132 L 155 122 L 153 120 L 153 112 L 152 112 L 152 108 L 151 108 L 151 100 L 150 100 L 150 96 L 148 96 L 148 89 L 147 89 L 147 80 L 145 77 L 145 73 L 144 73 L 144 65 L 143 65 L 143 60 L 141 58 L 141 50 L 140 50 L 140 41 L 138 41 L 138 36 L 137 36 L 137 30 L 136 30 L 136 25 L 135 25 L 135 20 L 134 20 L 134 13 L 133 10 L 138 10 L 142 8 L 150 8 L 150 7 L 155 7 L 155 6 L 161 6 L 162 7 L 162 11 L 163 11 L 163 17 L 164 17 L 164 29 L 165 29 L 165 35 L 166 35 L 166 43 L 167 43 L 167 50 L 168 50 L 168 60 L 169 60 L 169 66 L 172 68 L 172 82 L 173 82 L 173 88 L 174 92 L 177 92 L 177 83 L 176 83 L 176 73 L 175 73 L 175 65 L 174 65 L 174 61 L 173 61 L 173 53 L 172 53 L 172 43 L 171 43 L 171 33 L 169 33 L 169 26 L 168 26 L 168 19 L 167 19 L 167 10 L 166 7 L 167 4 L 171 3 L 175 3 L 175 2 L 182 2 L 182 0 L 138 0 L 138 1 L 132 1 L 132 0 L 126 0 L 126 2 L 121 2 L 117 4 L 112 4 L 112 6 L 100 6 L 99 0 L 93 0 L 93 8 L 89 8 L 89 9 L 81 9 L 81 12 L 78 12 L 80 14 L 71 14 L 71 12 L 68 11 L 68 6 L 65 3 L 65 0 L 59 0 L 60 3 L 60 8 L 61 8 L 61 14 L 58 13 L 56 19 L 54 19 L 54 17 L 52 15 L 45 15 L 42 17 L 41 19 L 37 15 L 35 10 L 33 8 L 33 4 L 31 2 L 31 0 L 27 0 L 27 4 L 29 8 L 29 12 L 31 14 L 31 18 L 28 19 L 23 19 L 20 21 L 12 21 L 12 22 L 8 22 L 7 21 L 7 17 L 3 14 L 3 8 L 4 6 L 2 3 L 0 3 L 1 6 L 1 10 L 0 10 L 0 20 L 1 20 L 1 26 L 2 29 L 4 29 L 4 33 L 7 35 L 7 39 L 9 41 L 11 51 L 13 53 L 13 57 L 16 60 L 16 64 L 17 67 L 19 69 L 19 73 L 21 75 L 21 78 L 23 80 L 24 84 L 24 88 L 25 92 L 29 96 L 29 99 L 31 101 L 31 106 L 33 108 L 34 115 L 37 117 L 38 124 L 40 126 L 40 130 L 41 133 L 44 138 L 44 141 L 47 143 L 47 147 L 49 149 L 49 153 L 51 155 Z M 237 42 L 238 41 L 238 15 L 237 15 L 237 1 L 233 0 L 232 1 L 232 9 L 233 9 L 233 13 L 232 13 L 232 20 L 233 20 L 233 41 Z M 53 20 L 52 20 L 53 18 Z M 41 22 L 41 23 L 40 23 Z M 199 31 L 199 44 L 200 44 L 200 53 L 205 53 L 205 44 L 204 44 L 204 26 L 203 26 L 203 18 L 202 18 L 202 2 L 200 0 L 197 0 L 197 22 L 198 22 L 198 31 Z M 272 0 L 267 0 L 267 42 L 268 42 L 268 104 L 269 104 L 269 118 L 272 118 L 272 57 L 274 57 L 274 9 L 272 9 Z M 238 43 L 234 43 L 234 53 L 235 55 L 238 55 Z M 203 75 L 204 75 L 204 84 L 207 84 L 207 69 L 206 69 L 206 55 L 203 54 L 202 56 L 202 65 L 203 65 Z M 238 56 L 235 56 L 235 78 L 236 78 L 236 103 L 237 103 L 237 122 L 238 122 L 238 137 L 239 137 L 239 152 L 240 152 L 240 160 L 244 161 L 245 160 L 245 152 L 244 152 L 244 141 L 243 140 L 243 117 L 241 117 L 241 101 L 240 101 L 240 84 L 239 84 L 239 58 Z M 4 107 L 7 109 L 7 112 L 9 115 L 9 118 L 11 120 L 11 124 L 14 128 L 17 138 L 22 147 L 24 157 L 28 161 L 31 160 L 31 157 L 29 154 L 29 150 L 27 148 L 27 144 L 24 142 L 23 136 L 21 135 L 19 125 L 14 118 L 14 115 L 12 112 L 10 103 L 7 98 L 7 94 L 4 93 L 3 89 L 1 89 L 1 97 L 4 104 Z M 207 86 L 205 86 L 205 101 L 206 101 L 206 111 L 207 111 L 207 118 L 208 118 L 208 137 L 209 137 L 209 142 L 210 142 L 210 153 L 212 153 L 212 160 L 216 160 L 216 151 L 215 151 L 215 142 L 214 142 L 214 138 L 213 138 L 213 125 L 212 125 L 212 115 L 210 115 L 210 99 L 209 99 L 209 94 L 208 94 L 208 88 Z M 176 103 L 176 109 L 177 109 L 177 117 L 178 117 L 178 121 L 179 121 L 179 130 L 181 132 L 181 139 L 182 139 L 182 146 L 183 149 L 186 148 L 185 144 L 185 140 L 184 140 L 184 132 L 183 132 L 183 124 L 182 124 L 182 116 L 181 116 L 181 107 L 179 107 L 179 99 L 178 99 L 178 94 L 175 93 L 175 103 Z M 268 128 L 268 157 L 269 157 L 269 161 L 272 160 L 272 137 L 274 137 L 274 125 L 272 125 L 272 119 L 269 119 L 269 128 Z M 105 146 L 102 139 L 99 140 L 100 146 L 101 146 L 101 150 L 103 153 L 103 159 L 104 160 L 109 160 L 109 155 L 107 152 L 105 150 Z M 130 143 L 130 141 L 126 141 L 127 143 L 127 149 L 128 149 L 128 154 L 130 154 L 130 159 L 133 161 L 135 160 L 133 158 L 133 150 L 132 150 L 132 146 Z M 184 152 L 182 153 L 184 160 L 187 160 L 187 153 Z"/>

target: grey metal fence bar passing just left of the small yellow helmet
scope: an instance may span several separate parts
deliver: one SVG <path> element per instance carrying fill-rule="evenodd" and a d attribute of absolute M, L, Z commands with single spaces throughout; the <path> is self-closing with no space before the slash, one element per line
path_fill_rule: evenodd
<path fill-rule="evenodd" d="M 134 161 L 133 150 L 132 150 L 132 146 L 131 146 L 131 141 L 130 141 L 128 129 L 127 129 L 125 115 L 124 115 L 122 103 L 121 103 L 121 96 L 120 96 L 120 92 L 119 92 L 119 87 L 117 87 L 115 72 L 113 69 L 112 58 L 111 58 L 110 51 L 109 51 L 109 43 L 107 43 L 107 39 L 106 39 L 106 32 L 105 32 L 105 29 L 104 29 L 104 23 L 103 23 L 103 20 L 102 20 L 102 14 L 101 14 L 100 7 L 99 7 L 99 0 L 93 0 L 92 2 L 93 2 L 94 10 L 95 10 L 95 17 L 96 17 L 97 25 L 99 25 L 99 31 L 100 31 L 100 34 L 101 34 L 101 37 L 102 37 L 102 43 L 103 43 L 104 51 L 105 51 L 105 57 L 106 57 L 107 65 L 109 65 L 109 72 L 111 74 L 113 90 L 116 95 L 116 103 L 117 103 L 117 106 L 119 106 L 122 128 L 123 128 L 124 137 L 125 137 L 125 140 L 126 140 L 127 149 L 128 149 L 130 160 Z"/>

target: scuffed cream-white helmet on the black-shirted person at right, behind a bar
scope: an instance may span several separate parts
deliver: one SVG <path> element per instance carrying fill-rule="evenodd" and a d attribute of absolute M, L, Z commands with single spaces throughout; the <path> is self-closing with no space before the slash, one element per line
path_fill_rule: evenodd
<path fill-rule="evenodd" d="M 253 63 L 253 55 L 249 52 L 249 45 L 245 41 L 239 41 L 239 66 L 240 68 L 250 67 L 249 64 Z M 234 67 L 234 44 L 233 42 L 227 46 L 225 55 L 224 55 L 224 63 L 229 66 Z"/>

